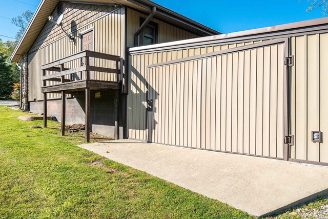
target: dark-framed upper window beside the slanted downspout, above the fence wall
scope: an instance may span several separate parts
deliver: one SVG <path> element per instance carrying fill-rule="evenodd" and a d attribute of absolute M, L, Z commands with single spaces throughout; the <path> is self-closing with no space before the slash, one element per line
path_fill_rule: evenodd
<path fill-rule="evenodd" d="M 140 26 L 145 18 L 140 17 Z M 158 24 L 149 22 L 139 35 L 139 46 L 147 46 L 158 43 Z"/>

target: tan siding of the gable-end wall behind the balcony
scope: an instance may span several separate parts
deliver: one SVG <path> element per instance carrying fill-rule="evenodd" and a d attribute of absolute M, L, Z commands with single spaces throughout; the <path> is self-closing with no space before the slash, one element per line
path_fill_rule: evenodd
<path fill-rule="evenodd" d="M 107 54 L 121 56 L 121 48 L 123 40 L 122 35 L 122 18 L 124 14 L 123 8 L 99 5 L 85 5 L 63 3 L 65 8 L 65 18 L 63 27 L 72 27 L 77 30 L 72 34 L 75 37 L 75 42 L 69 42 L 68 37 L 63 35 L 63 31 L 54 27 L 51 23 L 47 22 L 44 29 L 36 39 L 34 45 L 28 54 L 29 63 L 29 101 L 35 98 L 37 101 L 43 99 L 41 93 L 42 86 L 42 72 L 40 66 L 54 62 L 57 59 L 67 57 L 71 54 L 80 51 L 80 38 L 79 33 L 93 28 L 94 31 L 94 51 L 103 52 Z M 56 16 L 56 12 L 52 14 Z M 54 18 L 56 19 L 56 18 Z M 75 26 L 71 26 L 71 21 L 75 21 Z M 68 24 L 69 23 L 69 24 Z M 112 32 L 109 32 L 109 30 Z M 69 29 L 66 29 L 70 32 Z M 35 51 L 34 51 L 35 50 Z M 67 64 L 68 68 L 76 67 L 79 61 L 70 62 Z M 114 62 L 105 62 L 95 58 L 95 66 L 114 68 Z M 116 75 L 108 73 L 94 72 L 96 79 L 103 81 L 114 81 Z M 47 82 L 48 85 L 54 82 Z M 48 98 L 59 98 L 57 94 L 48 94 Z"/>

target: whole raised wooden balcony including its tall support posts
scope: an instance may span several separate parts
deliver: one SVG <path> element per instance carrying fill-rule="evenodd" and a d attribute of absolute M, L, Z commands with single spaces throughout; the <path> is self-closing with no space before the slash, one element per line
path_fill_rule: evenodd
<path fill-rule="evenodd" d="M 119 56 L 85 50 L 41 66 L 43 72 L 41 90 L 44 93 L 44 127 L 47 127 L 47 93 L 61 93 L 61 135 L 64 135 L 66 94 L 85 92 L 85 132 L 86 142 L 90 142 L 90 90 L 114 89 L 116 90 L 115 98 L 118 103 L 121 88 L 119 80 L 120 63 Z M 97 64 L 101 67 L 98 67 Z M 114 68 L 108 66 L 114 66 Z M 102 76 L 99 76 L 100 74 Z M 47 85 L 47 82 L 51 82 L 51 84 Z M 117 139 L 118 104 L 115 108 L 115 138 Z"/>

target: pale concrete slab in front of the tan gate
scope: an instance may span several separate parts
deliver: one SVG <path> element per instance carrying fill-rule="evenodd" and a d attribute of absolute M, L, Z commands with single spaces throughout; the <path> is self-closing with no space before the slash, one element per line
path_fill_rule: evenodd
<path fill-rule="evenodd" d="M 327 167 L 131 140 L 80 147 L 255 216 L 328 194 Z"/>

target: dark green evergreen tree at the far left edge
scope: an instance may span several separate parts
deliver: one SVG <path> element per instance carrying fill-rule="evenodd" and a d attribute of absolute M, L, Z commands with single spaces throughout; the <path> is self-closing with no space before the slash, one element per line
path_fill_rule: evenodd
<path fill-rule="evenodd" d="M 13 78 L 7 56 L 0 52 L 0 98 L 8 98 L 12 87 Z"/>

